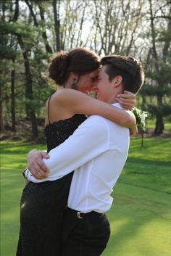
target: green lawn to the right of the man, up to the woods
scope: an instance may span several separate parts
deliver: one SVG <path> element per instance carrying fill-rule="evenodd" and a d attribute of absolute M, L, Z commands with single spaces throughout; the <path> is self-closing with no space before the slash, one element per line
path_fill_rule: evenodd
<path fill-rule="evenodd" d="M 112 235 L 105 256 L 171 255 L 169 139 L 132 139 L 108 212 Z"/>

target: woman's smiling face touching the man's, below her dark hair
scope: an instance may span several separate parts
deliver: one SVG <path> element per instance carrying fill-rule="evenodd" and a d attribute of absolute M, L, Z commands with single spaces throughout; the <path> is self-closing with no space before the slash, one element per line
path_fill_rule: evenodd
<path fill-rule="evenodd" d="M 91 73 L 87 73 L 86 75 L 81 75 L 78 83 L 75 86 L 75 89 L 78 91 L 82 91 L 84 94 L 89 94 L 92 91 L 92 88 L 97 80 L 97 75 L 99 73 L 99 69 L 94 70 Z"/>

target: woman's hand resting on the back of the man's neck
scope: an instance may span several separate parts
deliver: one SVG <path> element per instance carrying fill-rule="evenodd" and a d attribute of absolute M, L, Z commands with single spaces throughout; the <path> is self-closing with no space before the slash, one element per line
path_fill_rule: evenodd
<path fill-rule="evenodd" d="M 135 107 L 135 94 L 130 91 L 124 91 L 124 94 L 117 95 L 116 99 L 125 110 L 132 110 Z"/>

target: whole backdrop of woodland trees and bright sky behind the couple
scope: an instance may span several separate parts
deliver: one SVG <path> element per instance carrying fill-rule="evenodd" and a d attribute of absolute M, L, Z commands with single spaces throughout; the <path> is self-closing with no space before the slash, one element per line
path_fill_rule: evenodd
<path fill-rule="evenodd" d="M 154 135 L 164 133 L 171 120 L 170 0 L 7 0 L 0 7 L 1 139 L 5 131 L 27 133 L 25 123 L 33 139 L 41 136 L 52 92 L 42 73 L 51 54 L 76 46 L 140 59 L 146 81 L 136 107 L 149 112 Z"/>

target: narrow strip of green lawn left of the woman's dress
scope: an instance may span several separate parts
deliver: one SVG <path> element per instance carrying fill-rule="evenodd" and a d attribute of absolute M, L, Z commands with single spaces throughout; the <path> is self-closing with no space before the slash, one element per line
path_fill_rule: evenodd
<path fill-rule="evenodd" d="M 43 145 L 1 144 L 1 256 L 14 256 L 19 232 L 19 205 L 24 181 L 22 170 L 26 156 L 33 148 Z"/>

